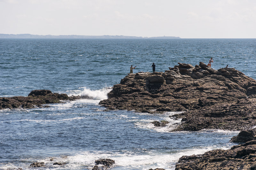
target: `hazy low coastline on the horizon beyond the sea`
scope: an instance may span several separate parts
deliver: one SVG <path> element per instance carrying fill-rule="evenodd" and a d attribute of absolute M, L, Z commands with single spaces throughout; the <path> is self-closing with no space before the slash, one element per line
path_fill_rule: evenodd
<path fill-rule="evenodd" d="M 0 38 L 82 38 L 82 39 L 180 39 L 180 37 L 136 37 L 124 35 L 32 35 L 32 34 L 0 34 Z"/>

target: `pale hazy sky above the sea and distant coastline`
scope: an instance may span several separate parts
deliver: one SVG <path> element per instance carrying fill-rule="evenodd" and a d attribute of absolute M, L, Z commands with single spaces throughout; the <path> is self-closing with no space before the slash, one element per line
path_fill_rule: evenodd
<path fill-rule="evenodd" d="M 255 0 L 0 0 L 0 33 L 256 38 Z"/>

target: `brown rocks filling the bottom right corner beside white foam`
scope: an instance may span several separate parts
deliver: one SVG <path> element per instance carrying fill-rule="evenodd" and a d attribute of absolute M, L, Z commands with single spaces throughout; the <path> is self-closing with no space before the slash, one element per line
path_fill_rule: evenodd
<path fill-rule="evenodd" d="M 238 139 L 242 139 L 242 136 L 246 137 L 245 134 L 248 133 L 250 137 L 256 133 L 256 129 L 241 131 L 238 134 Z M 199 155 L 182 156 L 176 164 L 175 170 L 188 169 L 255 170 L 256 140 L 255 138 L 252 138 L 252 140 L 246 142 L 245 144 L 234 145 L 233 147 L 231 147 L 231 149 L 228 150 L 213 150 Z"/>

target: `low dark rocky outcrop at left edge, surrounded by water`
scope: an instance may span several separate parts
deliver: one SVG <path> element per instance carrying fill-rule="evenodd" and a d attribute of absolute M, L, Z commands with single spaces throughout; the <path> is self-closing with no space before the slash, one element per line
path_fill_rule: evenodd
<path fill-rule="evenodd" d="M 50 90 L 33 90 L 27 97 L 1 97 L 0 109 L 47 107 L 42 105 L 61 103 L 60 100 L 75 100 L 79 97 L 68 97 L 67 94 L 52 93 Z"/>

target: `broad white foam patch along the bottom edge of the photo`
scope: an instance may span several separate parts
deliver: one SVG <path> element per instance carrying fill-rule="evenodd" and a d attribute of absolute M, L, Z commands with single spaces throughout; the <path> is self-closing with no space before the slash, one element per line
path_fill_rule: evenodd
<path fill-rule="evenodd" d="M 150 168 L 164 168 L 166 170 L 173 170 L 175 163 L 184 155 L 203 154 L 205 152 L 215 149 L 229 149 L 226 147 L 209 146 L 196 147 L 191 149 L 179 150 L 172 153 L 156 153 L 147 152 L 146 154 L 138 154 L 134 152 L 122 151 L 120 152 L 80 152 L 73 156 L 55 158 L 54 161 L 68 162 L 63 168 L 80 169 L 86 167 L 92 169 L 95 165 L 95 160 L 100 158 L 108 158 L 115 160 L 113 169 L 138 169 L 148 170 Z M 39 160 L 40 162 L 52 163 L 49 159 Z M 56 167 L 57 168 L 57 167 Z"/>

